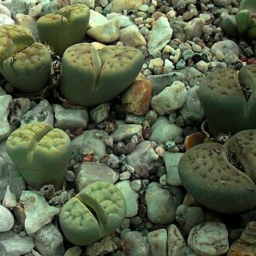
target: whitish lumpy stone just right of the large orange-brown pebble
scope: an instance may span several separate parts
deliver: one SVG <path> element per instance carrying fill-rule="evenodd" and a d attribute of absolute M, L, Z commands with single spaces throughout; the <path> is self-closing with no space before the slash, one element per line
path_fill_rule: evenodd
<path fill-rule="evenodd" d="M 151 107 L 158 115 L 167 115 L 180 109 L 186 102 L 188 92 L 181 81 L 174 81 L 171 86 L 151 99 Z"/>

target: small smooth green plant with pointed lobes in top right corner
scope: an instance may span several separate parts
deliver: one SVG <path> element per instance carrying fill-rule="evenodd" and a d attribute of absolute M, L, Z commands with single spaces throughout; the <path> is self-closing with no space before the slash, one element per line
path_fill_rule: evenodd
<path fill-rule="evenodd" d="M 221 28 L 228 36 L 256 38 L 256 5 L 254 1 L 242 0 L 236 16 L 227 16 Z"/>

